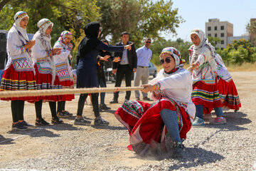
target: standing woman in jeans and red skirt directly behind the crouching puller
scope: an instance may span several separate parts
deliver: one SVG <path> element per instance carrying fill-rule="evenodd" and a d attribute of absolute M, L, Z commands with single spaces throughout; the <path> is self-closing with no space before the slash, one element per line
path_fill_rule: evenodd
<path fill-rule="evenodd" d="M 192 100 L 196 105 L 196 120 L 193 126 L 203 126 L 203 110 L 215 109 L 217 117 L 212 124 L 225 124 L 226 120 L 220 107 L 218 92 L 217 66 L 215 63 L 215 48 L 210 45 L 205 33 L 199 28 L 191 31 L 193 51 L 191 53 L 193 93 Z M 207 112 L 206 112 L 207 113 Z"/>

